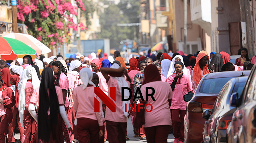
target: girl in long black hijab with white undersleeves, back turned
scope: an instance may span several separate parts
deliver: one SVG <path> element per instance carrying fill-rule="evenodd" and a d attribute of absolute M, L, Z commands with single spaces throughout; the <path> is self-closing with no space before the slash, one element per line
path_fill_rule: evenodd
<path fill-rule="evenodd" d="M 38 108 L 38 115 L 36 109 Z M 40 87 L 34 89 L 28 107 L 29 113 L 38 122 L 38 138 L 43 143 L 63 142 L 62 119 L 72 132 L 66 115 L 62 90 L 54 85 L 53 71 L 45 68 Z"/>

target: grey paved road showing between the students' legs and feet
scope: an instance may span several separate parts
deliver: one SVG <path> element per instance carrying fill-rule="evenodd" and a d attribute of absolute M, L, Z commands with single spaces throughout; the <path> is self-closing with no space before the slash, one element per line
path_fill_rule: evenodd
<path fill-rule="evenodd" d="M 134 133 L 133 133 L 133 125 L 131 122 L 131 118 L 127 119 L 127 134 L 130 140 L 126 141 L 126 143 L 146 143 L 147 142 L 146 140 L 140 140 L 139 138 L 133 137 Z M 15 138 L 16 139 L 20 138 L 20 134 L 15 134 Z M 173 134 L 169 134 L 168 143 L 173 143 L 173 141 L 174 141 Z"/>

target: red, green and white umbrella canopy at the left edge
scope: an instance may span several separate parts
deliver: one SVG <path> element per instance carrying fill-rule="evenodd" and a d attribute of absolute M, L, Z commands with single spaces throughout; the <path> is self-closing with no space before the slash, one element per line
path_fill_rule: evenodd
<path fill-rule="evenodd" d="M 19 40 L 0 37 L 0 43 L 0 58 L 2 59 L 13 60 L 17 56 L 23 57 L 25 55 L 36 57 L 36 51 Z"/>

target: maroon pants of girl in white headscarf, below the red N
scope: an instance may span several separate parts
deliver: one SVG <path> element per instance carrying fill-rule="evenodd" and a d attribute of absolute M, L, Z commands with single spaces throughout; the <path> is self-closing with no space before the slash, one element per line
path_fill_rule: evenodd
<path fill-rule="evenodd" d="M 99 138 L 99 123 L 89 118 L 78 118 L 76 130 L 79 143 L 103 143 L 104 136 Z"/>

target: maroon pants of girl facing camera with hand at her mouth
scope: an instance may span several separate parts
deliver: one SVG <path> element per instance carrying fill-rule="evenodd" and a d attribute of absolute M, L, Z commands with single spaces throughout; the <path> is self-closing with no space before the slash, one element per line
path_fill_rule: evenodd
<path fill-rule="evenodd" d="M 173 136 L 179 138 L 180 141 L 184 141 L 184 116 L 186 110 L 172 109 L 172 129 Z"/>

